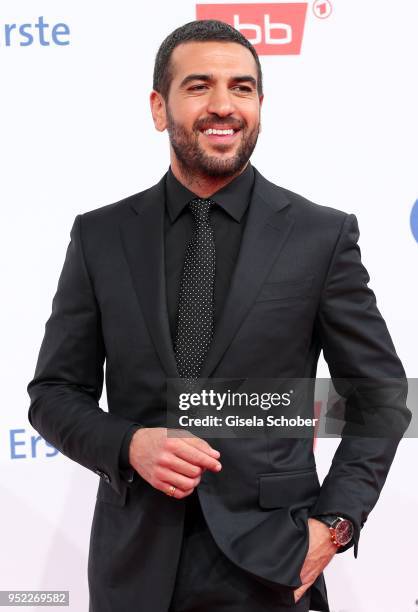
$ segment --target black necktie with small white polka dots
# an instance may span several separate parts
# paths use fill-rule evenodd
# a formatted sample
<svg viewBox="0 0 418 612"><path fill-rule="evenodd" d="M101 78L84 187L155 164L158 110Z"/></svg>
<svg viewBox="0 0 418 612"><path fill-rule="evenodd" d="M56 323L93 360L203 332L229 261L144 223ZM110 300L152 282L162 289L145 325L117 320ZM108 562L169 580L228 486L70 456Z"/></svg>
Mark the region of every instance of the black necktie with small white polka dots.
<svg viewBox="0 0 418 612"><path fill-rule="evenodd" d="M174 345L179 376L200 376L213 335L215 240L209 214L212 200L196 198L189 203L194 234L187 245Z"/></svg>

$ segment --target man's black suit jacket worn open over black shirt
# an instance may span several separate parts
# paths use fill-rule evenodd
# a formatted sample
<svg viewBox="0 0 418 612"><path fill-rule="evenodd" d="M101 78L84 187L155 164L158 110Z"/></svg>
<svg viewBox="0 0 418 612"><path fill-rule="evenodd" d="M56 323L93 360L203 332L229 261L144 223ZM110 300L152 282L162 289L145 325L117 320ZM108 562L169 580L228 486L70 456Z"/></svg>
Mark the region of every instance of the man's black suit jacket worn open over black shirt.
<svg viewBox="0 0 418 612"><path fill-rule="evenodd" d="M203 377L404 379L368 288L354 215L313 204L255 170L249 216ZM127 484L119 452L132 423L165 426L166 379L177 377L164 277L164 177L78 215L46 324L29 420L62 453L101 476L90 553L94 612L168 609L185 500L142 478ZM99 407L106 360L109 413ZM359 532L409 423L405 385L382 410L392 438L344 437L322 486L312 441L219 439L223 469L198 487L208 526L238 566L290 603L308 549L307 519L341 513ZM375 406L379 416L379 406ZM361 407L360 407L361 409ZM323 576L312 609L328 610Z"/></svg>

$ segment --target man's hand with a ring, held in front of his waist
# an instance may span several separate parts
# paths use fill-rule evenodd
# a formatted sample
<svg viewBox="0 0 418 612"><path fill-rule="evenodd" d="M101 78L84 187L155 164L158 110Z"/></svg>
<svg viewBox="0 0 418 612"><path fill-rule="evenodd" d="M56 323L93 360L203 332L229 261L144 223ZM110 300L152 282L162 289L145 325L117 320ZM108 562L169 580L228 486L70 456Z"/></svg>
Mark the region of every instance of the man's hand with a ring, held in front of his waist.
<svg viewBox="0 0 418 612"><path fill-rule="evenodd" d="M187 497L200 482L204 470L219 472L219 451L205 440L184 430L170 430L177 435L168 436L165 427L144 427L132 436L129 463L154 488L173 497ZM183 436L183 437L180 437Z"/></svg>

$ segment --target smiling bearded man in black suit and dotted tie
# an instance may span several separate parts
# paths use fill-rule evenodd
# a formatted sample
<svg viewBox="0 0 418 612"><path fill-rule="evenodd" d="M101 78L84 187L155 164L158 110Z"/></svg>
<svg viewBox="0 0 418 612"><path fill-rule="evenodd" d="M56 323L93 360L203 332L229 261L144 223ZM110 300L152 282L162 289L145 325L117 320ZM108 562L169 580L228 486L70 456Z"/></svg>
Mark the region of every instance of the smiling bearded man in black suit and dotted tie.
<svg viewBox="0 0 418 612"><path fill-rule="evenodd" d="M321 349L336 381L403 380L356 218L250 164L261 67L230 26L170 34L150 102L169 171L76 217L28 386L31 424L101 477L90 610L328 610L322 570L357 555L409 422L404 385L381 410L397 434L344 437L322 487L312 440L167 435L165 392L168 378L315 377Z"/></svg>

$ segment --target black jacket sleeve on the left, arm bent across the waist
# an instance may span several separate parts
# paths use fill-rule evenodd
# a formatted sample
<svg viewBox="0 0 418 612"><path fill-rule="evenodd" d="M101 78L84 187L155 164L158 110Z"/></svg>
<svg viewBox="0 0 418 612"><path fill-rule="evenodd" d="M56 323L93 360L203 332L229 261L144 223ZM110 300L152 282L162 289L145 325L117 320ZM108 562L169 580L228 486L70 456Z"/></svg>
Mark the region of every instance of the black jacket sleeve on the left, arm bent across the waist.
<svg viewBox="0 0 418 612"><path fill-rule="evenodd" d="M98 403L106 355L100 309L83 255L81 220L77 215L71 229L35 375L27 387L28 416L45 440L120 494L125 486L120 452L132 422L105 412Z"/></svg>

